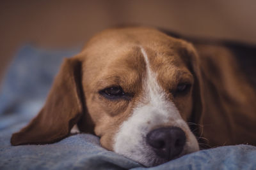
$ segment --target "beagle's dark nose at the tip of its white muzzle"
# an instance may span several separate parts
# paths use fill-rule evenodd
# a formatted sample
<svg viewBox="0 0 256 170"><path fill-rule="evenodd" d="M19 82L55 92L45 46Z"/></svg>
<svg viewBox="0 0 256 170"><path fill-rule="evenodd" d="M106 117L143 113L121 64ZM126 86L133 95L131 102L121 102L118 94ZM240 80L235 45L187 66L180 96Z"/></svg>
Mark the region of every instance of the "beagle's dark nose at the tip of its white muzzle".
<svg viewBox="0 0 256 170"><path fill-rule="evenodd" d="M147 143L156 154L167 160L178 156L185 145L185 132L179 127L161 127L147 134Z"/></svg>

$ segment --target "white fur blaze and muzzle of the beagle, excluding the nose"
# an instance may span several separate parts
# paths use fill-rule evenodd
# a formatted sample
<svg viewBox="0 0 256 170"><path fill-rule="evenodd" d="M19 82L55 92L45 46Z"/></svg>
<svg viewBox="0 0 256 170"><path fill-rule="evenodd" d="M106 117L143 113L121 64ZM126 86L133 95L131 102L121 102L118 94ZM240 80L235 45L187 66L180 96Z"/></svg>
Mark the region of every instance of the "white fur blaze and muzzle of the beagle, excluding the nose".
<svg viewBox="0 0 256 170"><path fill-rule="evenodd" d="M147 78L143 82L143 99L116 133L113 150L144 166L155 166L166 162L157 157L147 145L148 132L161 125L180 127L186 133L186 145L180 155L199 150L195 136L182 120L175 104L168 101L163 89L157 83L157 74L150 69L147 53L141 48L147 66Z"/></svg>

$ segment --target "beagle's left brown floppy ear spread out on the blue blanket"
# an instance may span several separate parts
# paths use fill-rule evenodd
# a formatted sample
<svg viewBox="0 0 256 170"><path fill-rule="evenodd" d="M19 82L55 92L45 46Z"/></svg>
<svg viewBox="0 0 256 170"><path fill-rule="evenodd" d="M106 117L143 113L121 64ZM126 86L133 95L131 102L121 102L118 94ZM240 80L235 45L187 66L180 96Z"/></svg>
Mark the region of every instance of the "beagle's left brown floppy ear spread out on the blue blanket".
<svg viewBox="0 0 256 170"><path fill-rule="evenodd" d="M53 143L65 138L84 111L81 62L65 59L44 108L19 132L12 145Z"/></svg>

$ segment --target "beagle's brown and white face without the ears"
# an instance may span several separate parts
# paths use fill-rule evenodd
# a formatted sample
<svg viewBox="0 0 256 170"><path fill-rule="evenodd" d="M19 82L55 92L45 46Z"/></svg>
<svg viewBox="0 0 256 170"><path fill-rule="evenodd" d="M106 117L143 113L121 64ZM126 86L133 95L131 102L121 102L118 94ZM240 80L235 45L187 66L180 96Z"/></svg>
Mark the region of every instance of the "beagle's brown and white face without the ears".
<svg viewBox="0 0 256 170"><path fill-rule="evenodd" d="M86 106L100 143L145 166L198 150L186 124L193 74L180 41L157 33L106 32L87 46L83 64Z"/></svg>

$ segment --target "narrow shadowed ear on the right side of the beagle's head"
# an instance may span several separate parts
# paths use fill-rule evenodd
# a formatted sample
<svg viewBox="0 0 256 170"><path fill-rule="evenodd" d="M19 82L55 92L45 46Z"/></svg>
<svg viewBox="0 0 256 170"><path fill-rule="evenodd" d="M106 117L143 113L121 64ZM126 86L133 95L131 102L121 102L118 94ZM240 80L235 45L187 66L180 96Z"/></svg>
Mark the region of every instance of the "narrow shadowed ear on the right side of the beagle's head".
<svg viewBox="0 0 256 170"><path fill-rule="evenodd" d="M180 49L182 59L189 67L189 71L194 76L193 85L193 110L189 122L189 127L196 137L202 136L202 115L204 113L204 83L202 80L202 69L198 53L195 47L186 41L182 42L182 49ZM205 143L203 138L198 138L199 143Z"/></svg>

